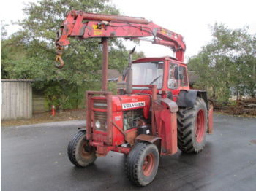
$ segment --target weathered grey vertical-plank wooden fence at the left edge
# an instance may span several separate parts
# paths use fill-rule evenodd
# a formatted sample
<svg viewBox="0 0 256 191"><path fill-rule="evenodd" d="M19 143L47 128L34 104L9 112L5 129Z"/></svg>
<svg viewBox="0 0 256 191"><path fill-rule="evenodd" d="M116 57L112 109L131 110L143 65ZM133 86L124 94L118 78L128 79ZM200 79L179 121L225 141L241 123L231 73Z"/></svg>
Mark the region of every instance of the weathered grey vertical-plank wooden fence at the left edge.
<svg viewBox="0 0 256 191"><path fill-rule="evenodd" d="M31 80L1 79L1 120L32 117Z"/></svg>

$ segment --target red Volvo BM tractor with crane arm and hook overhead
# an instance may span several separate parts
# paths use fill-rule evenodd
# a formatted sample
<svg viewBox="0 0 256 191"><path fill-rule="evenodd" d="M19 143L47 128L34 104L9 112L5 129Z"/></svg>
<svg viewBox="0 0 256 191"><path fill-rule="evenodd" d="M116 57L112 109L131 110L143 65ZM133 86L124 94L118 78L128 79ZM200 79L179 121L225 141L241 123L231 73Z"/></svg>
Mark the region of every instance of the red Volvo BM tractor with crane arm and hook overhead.
<svg viewBox="0 0 256 191"><path fill-rule="evenodd" d="M68 156L77 167L86 167L108 152L127 155L128 179L146 186L154 180L159 156L198 153L213 130L213 108L203 90L189 89L186 45L173 31L138 17L98 15L71 11L56 40L56 61L61 59L68 37L102 38L102 91L86 92L86 128L69 142ZM176 58L142 58L132 61L118 83L118 95L107 90L108 39L141 39L171 47Z"/></svg>

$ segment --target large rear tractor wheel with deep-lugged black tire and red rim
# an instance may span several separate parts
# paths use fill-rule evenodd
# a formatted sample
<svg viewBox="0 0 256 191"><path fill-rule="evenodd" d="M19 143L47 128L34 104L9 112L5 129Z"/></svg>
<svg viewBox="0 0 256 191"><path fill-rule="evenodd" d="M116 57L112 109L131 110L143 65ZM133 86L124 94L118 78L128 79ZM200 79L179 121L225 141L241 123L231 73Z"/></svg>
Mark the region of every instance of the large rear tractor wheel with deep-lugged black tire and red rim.
<svg viewBox="0 0 256 191"><path fill-rule="evenodd" d="M177 112L178 148L182 152L198 153L203 150L208 128L207 113L205 101L198 97L193 108L179 108Z"/></svg>

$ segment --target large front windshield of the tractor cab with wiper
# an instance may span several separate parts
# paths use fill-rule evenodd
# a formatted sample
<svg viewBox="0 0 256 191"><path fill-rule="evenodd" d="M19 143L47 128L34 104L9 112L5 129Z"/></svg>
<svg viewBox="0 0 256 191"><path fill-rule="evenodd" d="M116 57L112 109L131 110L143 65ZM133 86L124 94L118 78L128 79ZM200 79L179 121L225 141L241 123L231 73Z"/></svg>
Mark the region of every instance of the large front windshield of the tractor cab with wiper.
<svg viewBox="0 0 256 191"><path fill-rule="evenodd" d="M157 85L162 88L163 61L133 63L132 84L133 85Z"/></svg>

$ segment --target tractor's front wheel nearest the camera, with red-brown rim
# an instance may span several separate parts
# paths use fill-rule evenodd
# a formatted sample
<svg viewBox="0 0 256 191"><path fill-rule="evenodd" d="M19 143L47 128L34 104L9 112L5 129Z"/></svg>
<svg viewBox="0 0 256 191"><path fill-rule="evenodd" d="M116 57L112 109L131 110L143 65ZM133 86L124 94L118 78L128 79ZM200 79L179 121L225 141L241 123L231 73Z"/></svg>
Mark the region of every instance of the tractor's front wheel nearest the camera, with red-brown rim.
<svg viewBox="0 0 256 191"><path fill-rule="evenodd" d="M159 152L156 145L138 142L127 156L125 171L132 184L144 187L154 180L158 165Z"/></svg>

